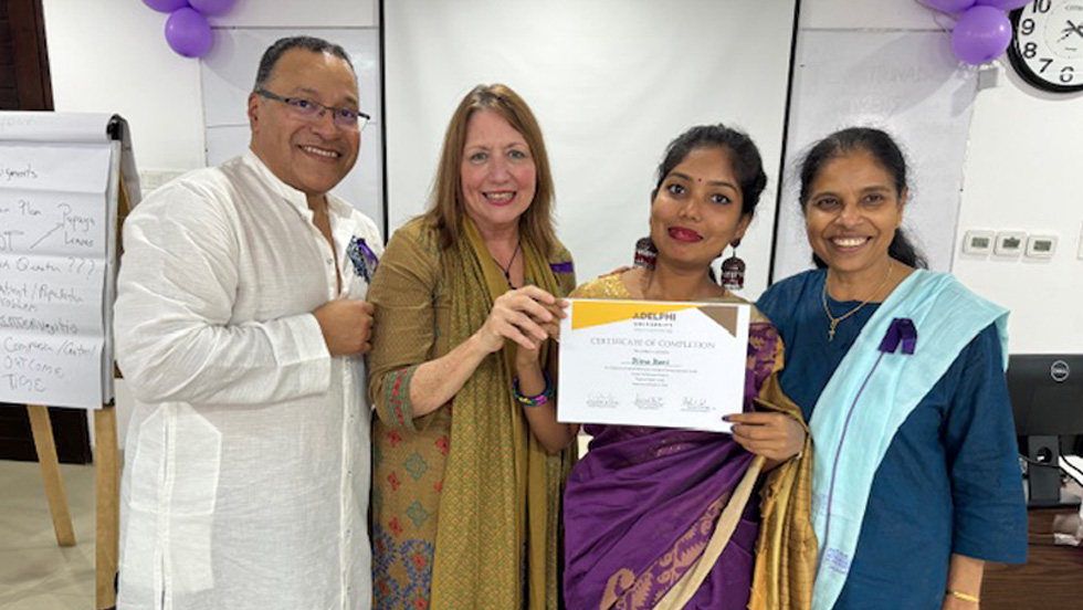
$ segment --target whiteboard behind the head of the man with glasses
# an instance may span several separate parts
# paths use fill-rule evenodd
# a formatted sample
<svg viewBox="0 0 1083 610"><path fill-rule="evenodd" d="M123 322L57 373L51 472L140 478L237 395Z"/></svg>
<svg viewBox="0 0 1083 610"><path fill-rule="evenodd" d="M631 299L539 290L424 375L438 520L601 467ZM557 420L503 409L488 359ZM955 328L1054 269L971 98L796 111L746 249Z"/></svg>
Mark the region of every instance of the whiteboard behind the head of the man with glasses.
<svg viewBox="0 0 1083 610"><path fill-rule="evenodd" d="M372 116L361 132L357 165L332 192L383 224L383 170L380 112L379 31L350 29L217 29L214 48L200 62L203 114L207 126L207 165L217 166L242 154L251 139L248 97L255 83L260 57L274 41L313 35L341 45L354 63L360 108Z"/></svg>

